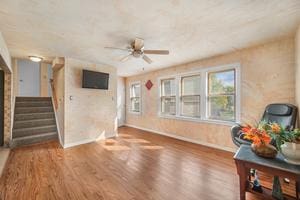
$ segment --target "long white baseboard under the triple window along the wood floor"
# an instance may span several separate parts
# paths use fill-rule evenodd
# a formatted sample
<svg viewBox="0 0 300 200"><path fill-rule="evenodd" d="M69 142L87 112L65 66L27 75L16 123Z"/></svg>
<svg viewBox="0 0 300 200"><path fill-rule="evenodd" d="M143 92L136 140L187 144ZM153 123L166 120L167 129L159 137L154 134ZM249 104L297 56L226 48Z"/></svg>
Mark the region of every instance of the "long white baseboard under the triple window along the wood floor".
<svg viewBox="0 0 300 200"><path fill-rule="evenodd" d="M194 143L194 144L200 144L200 145L203 145L203 146L207 146L207 147L211 147L211 148L215 148L215 149L220 149L220 150L223 150L223 151L228 151L228 152L233 152L233 153L236 152L236 149L234 149L234 148L222 147L222 146L219 146L219 145L216 145L216 144L211 144L211 143L207 143L207 142L201 142L201 141L194 140L194 139L191 139L191 138L186 138L186 137L179 136L179 135L165 133L165 132L162 132L162 131L157 131L157 130L153 130L153 129L143 128L143 127L135 126L135 125L131 125L131 124L125 124L125 126L131 127L131 128L140 129L140 130L143 130L143 131L148 131L148 132L156 133L156 134L159 134L159 135L171 137L171 138L178 139L178 140L183 140L183 141Z"/></svg>

